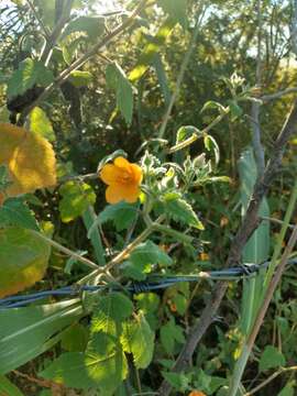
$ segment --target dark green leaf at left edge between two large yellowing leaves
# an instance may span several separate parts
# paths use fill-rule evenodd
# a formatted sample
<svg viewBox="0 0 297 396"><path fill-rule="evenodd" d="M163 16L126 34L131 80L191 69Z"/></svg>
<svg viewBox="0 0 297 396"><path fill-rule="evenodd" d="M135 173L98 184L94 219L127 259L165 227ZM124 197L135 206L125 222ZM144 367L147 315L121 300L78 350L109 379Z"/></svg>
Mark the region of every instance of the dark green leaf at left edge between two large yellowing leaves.
<svg viewBox="0 0 297 396"><path fill-rule="evenodd" d="M23 198L8 198L0 207L0 227L8 226L38 231L37 222Z"/></svg>

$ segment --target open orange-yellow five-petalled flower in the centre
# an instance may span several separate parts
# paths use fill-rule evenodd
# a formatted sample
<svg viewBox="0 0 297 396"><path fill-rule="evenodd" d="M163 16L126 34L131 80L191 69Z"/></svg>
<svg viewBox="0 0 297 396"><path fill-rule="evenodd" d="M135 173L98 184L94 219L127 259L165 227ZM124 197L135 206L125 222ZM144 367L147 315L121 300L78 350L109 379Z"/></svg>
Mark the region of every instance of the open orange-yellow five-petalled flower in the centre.
<svg viewBox="0 0 297 396"><path fill-rule="evenodd" d="M108 185L106 198L109 204L121 200L135 202L140 196L142 169L136 164L131 164L123 157L118 157L113 164L107 164L100 172L100 178Z"/></svg>

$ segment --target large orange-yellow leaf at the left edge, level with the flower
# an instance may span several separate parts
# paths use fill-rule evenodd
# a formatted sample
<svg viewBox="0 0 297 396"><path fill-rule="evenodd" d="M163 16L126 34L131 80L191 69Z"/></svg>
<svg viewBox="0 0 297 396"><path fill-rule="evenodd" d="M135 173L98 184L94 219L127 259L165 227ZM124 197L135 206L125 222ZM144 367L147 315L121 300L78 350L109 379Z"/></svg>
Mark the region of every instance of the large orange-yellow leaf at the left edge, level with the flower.
<svg viewBox="0 0 297 396"><path fill-rule="evenodd" d="M47 140L9 123L0 123L0 165L7 165L13 197L56 184L56 161Z"/></svg>

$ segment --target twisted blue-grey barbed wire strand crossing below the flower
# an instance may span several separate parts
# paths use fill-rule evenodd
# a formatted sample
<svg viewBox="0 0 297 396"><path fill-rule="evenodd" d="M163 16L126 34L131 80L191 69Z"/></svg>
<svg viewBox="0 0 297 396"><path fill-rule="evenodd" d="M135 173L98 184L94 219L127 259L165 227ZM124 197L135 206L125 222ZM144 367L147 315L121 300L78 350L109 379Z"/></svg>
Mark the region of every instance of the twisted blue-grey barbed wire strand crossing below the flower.
<svg viewBox="0 0 297 396"><path fill-rule="evenodd" d="M151 275L146 280L143 282L130 282L127 285L123 285L121 288L118 285L82 285L77 284L61 287L52 290L43 290L31 293L20 296L10 296L0 299L0 310L8 308L20 308L30 305L31 302L36 302L38 300L45 299L47 297L63 297L63 296L79 296L82 293L96 293L103 290L120 292L122 289L131 294L148 293L153 290L164 289L170 286L174 286L183 282L198 282L199 279L209 279L209 280L240 280L242 278L249 278L256 276L261 270L265 270L270 266L271 262L264 262L261 264L254 263L244 263L240 266L231 267L228 270L218 270L218 271L208 271L199 272L193 275L175 275L175 276L162 276L162 275ZM288 265L297 264L297 258L288 261Z"/></svg>

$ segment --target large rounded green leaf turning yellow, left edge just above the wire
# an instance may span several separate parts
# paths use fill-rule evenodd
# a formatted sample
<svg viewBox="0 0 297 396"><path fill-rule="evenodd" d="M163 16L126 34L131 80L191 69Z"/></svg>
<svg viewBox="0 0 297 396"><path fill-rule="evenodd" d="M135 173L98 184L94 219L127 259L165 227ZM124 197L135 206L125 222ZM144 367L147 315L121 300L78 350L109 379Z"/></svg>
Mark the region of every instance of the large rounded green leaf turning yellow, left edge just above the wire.
<svg viewBox="0 0 297 396"><path fill-rule="evenodd" d="M40 280L47 266L50 245L31 230L0 230L0 298Z"/></svg>

